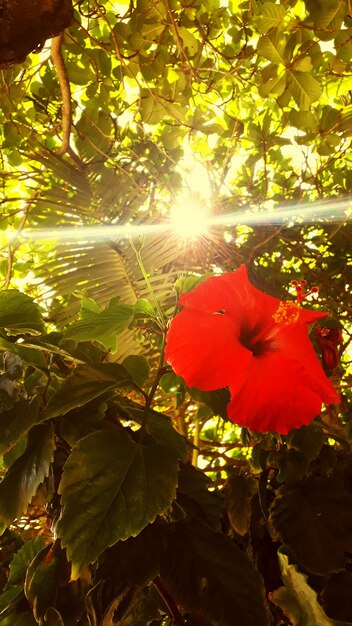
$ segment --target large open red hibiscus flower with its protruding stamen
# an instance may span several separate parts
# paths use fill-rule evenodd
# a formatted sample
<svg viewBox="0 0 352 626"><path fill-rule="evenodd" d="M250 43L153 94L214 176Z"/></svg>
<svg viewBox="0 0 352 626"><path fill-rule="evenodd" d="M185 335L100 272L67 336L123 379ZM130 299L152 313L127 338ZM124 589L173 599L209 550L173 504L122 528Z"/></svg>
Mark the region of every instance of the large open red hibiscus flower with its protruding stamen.
<svg viewBox="0 0 352 626"><path fill-rule="evenodd" d="M302 281L302 284L304 281ZM165 358L189 387L229 387L231 421L286 434L339 396L314 352L308 327L328 313L281 302L248 280L246 267L208 278L180 298ZM301 295L299 295L301 292Z"/></svg>

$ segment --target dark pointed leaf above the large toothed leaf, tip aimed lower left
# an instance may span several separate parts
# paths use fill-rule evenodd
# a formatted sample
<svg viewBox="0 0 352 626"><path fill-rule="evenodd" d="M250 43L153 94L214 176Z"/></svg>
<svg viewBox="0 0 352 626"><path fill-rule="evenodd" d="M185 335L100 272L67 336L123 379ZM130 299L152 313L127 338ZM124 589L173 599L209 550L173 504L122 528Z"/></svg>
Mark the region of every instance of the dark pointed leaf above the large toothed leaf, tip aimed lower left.
<svg viewBox="0 0 352 626"><path fill-rule="evenodd" d="M57 393L50 398L41 419L65 415L68 411L87 404L107 391L133 383L129 372L118 363L99 366L78 365Z"/></svg>

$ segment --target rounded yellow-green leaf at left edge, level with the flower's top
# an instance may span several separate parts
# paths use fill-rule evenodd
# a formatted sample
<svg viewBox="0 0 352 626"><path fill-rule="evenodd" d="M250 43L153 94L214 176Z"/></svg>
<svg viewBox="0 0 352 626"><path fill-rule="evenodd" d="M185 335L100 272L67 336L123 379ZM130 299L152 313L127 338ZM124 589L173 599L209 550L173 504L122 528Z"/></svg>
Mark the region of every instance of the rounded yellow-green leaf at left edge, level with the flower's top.
<svg viewBox="0 0 352 626"><path fill-rule="evenodd" d="M32 298L17 289L0 291L0 328L10 335L39 335L43 327L40 308Z"/></svg>

